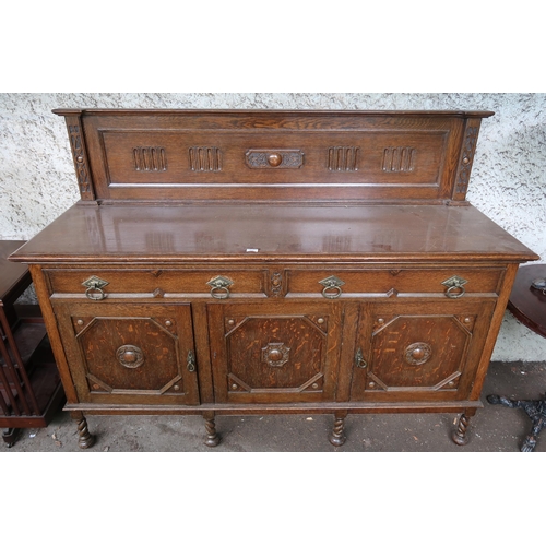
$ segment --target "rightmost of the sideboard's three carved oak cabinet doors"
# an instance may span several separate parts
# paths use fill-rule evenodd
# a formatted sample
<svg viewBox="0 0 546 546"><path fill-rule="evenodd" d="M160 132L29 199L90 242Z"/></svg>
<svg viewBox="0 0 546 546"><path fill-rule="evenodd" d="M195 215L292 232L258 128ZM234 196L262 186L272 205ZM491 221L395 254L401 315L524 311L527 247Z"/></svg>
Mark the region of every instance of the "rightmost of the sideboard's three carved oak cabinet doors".
<svg viewBox="0 0 546 546"><path fill-rule="evenodd" d="M351 399L464 400L494 308L495 301L364 305Z"/></svg>

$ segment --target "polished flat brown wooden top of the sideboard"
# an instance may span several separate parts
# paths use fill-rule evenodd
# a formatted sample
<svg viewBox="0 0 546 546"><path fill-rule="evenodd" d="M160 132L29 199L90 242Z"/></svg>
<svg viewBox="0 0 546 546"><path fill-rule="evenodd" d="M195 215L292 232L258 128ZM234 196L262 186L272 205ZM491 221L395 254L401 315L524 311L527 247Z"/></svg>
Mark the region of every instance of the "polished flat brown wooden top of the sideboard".
<svg viewBox="0 0 546 546"><path fill-rule="evenodd" d="M474 206L73 205L12 259L535 260Z"/></svg>

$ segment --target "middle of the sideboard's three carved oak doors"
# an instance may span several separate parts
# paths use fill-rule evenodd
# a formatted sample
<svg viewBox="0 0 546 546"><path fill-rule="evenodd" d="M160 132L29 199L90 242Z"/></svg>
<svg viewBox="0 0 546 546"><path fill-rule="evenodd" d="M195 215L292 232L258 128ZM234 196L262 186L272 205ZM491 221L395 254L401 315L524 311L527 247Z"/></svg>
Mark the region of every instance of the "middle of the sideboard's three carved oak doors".
<svg viewBox="0 0 546 546"><path fill-rule="evenodd" d="M337 306L212 304L207 310L217 402L334 400Z"/></svg>

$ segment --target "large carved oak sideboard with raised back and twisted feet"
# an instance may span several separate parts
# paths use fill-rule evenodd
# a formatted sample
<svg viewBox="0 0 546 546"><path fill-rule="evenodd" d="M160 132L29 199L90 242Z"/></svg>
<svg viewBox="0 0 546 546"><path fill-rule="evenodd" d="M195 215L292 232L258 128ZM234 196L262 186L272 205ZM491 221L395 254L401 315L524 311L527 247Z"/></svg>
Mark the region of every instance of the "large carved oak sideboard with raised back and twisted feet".
<svg viewBox="0 0 546 546"><path fill-rule="evenodd" d="M56 110L82 197L29 264L67 410L462 413L519 263L465 200L477 111Z"/></svg>

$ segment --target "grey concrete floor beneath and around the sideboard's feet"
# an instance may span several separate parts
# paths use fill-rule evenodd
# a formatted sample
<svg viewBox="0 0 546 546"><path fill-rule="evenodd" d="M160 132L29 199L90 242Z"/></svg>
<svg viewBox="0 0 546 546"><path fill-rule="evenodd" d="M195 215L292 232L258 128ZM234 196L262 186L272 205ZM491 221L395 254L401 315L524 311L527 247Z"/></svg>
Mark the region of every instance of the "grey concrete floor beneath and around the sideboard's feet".
<svg viewBox="0 0 546 546"><path fill-rule="evenodd" d="M484 408L471 419L470 442L451 440L454 414L349 415L347 441L334 448L328 441L332 415L217 416L222 442L203 444L200 416L94 416L87 417L96 436L92 452L513 452L531 429L523 410L490 405L488 394L538 400L546 393L546 363L492 363L486 378ZM59 411L47 428L22 429L7 452L79 452L75 425ZM546 452L546 431L536 452Z"/></svg>

